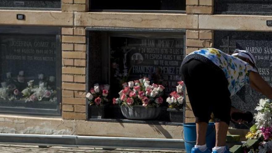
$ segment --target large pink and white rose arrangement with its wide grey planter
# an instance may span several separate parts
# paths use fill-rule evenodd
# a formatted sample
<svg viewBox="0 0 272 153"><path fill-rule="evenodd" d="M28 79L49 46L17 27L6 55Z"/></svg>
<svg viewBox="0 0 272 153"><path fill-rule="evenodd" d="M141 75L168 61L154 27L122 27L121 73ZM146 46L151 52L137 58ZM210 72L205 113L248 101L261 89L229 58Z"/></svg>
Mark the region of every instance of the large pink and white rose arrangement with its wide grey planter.
<svg viewBox="0 0 272 153"><path fill-rule="evenodd" d="M148 78L123 83L119 98L113 104L121 106L122 114L128 119L148 120L159 116L163 103L164 86L152 84Z"/></svg>

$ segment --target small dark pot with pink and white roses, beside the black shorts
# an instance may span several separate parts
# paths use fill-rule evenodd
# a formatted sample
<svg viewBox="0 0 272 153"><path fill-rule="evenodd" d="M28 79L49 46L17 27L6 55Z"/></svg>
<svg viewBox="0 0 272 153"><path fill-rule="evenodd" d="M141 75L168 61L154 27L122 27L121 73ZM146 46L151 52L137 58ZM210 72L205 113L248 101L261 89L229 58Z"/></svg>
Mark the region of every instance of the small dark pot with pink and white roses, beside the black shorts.
<svg viewBox="0 0 272 153"><path fill-rule="evenodd" d="M166 99L168 103L167 111L170 113L171 122L183 122L183 101L184 101L184 82L179 81L176 86L176 91L170 93L170 96Z"/></svg>

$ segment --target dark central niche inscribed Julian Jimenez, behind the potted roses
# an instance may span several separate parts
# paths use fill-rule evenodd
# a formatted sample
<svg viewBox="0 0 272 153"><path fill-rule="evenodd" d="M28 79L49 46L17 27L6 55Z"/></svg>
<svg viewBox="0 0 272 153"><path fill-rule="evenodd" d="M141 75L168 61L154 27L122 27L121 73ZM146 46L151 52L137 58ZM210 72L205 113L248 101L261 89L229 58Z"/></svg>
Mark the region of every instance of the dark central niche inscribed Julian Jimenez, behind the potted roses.
<svg viewBox="0 0 272 153"><path fill-rule="evenodd" d="M90 29L88 33L87 88L94 83L110 84L110 100L118 97L121 84L148 77L165 87L164 101L176 91L185 56L184 31L151 32L139 29ZM169 121L164 114L158 121ZM124 118L117 105L105 110L105 118Z"/></svg>

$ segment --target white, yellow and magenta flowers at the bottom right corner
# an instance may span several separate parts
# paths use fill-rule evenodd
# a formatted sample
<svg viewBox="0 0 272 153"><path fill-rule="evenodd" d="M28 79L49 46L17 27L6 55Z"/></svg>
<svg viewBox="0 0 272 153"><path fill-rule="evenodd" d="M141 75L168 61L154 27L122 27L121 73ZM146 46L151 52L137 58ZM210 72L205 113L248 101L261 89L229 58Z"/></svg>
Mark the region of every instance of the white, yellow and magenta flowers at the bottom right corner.
<svg viewBox="0 0 272 153"><path fill-rule="evenodd" d="M268 99L260 99L253 117L256 123L246 135L247 139L259 139L257 148L244 148L245 152L270 153L272 151L272 103Z"/></svg>

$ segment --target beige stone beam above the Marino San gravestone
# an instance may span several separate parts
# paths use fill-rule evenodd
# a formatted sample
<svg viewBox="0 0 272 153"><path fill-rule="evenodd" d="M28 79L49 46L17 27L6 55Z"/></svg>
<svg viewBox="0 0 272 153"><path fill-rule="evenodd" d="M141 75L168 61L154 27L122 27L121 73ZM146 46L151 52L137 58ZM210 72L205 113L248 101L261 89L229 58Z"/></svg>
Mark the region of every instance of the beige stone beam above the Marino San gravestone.
<svg viewBox="0 0 272 153"><path fill-rule="evenodd" d="M272 31L272 27L266 26L266 20L272 20L272 16L199 15L199 29Z"/></svg>

